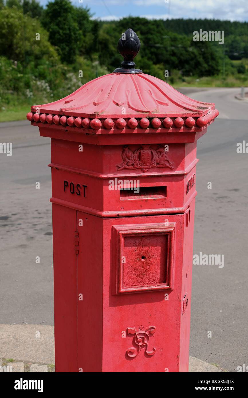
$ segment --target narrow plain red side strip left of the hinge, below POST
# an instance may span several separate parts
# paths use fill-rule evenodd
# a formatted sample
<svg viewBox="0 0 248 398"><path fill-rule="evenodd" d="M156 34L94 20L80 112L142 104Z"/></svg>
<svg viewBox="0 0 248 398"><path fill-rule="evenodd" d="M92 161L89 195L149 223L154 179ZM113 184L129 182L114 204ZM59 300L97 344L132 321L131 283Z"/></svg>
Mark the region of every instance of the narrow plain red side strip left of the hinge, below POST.
<svg viewBox="0 0 248 398"><path fill-rule="evenodd" d="M56 372L77 372L76 211L53 204Z"/></svg>

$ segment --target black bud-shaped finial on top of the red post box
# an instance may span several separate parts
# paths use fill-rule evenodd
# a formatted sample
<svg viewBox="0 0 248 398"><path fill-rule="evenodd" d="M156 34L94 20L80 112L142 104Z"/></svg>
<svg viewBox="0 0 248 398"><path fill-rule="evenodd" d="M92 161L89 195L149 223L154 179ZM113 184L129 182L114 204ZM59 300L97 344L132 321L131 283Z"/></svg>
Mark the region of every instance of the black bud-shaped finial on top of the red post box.
<svg viewBox="0 0 248 398"><path fill-rule="evenodd" d="M125 33L122 33L117 49L124 61L121 62L122 68L115 69L114 73L143 73L142 70L135 69L135 62L133 62L141 49L141 42L133 29L127 29Z"/></svg>

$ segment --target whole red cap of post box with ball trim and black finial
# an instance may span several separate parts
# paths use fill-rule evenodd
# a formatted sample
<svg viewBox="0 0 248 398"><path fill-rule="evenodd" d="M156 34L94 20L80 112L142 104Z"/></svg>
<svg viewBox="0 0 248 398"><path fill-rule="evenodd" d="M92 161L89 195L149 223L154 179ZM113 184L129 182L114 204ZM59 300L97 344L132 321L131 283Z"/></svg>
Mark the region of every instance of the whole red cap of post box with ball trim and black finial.
<svg viewBox="0 0 248 398"><path fill-rule="evenodd" d="M121 68L84 84L62 100L32 106L27 119L57 128L126 127L132 131L199 131L212 123L219 114L214 103L192 100L163 80L134 68L140 47L136 33L127 29L118 43L124 58Z"/></svg>

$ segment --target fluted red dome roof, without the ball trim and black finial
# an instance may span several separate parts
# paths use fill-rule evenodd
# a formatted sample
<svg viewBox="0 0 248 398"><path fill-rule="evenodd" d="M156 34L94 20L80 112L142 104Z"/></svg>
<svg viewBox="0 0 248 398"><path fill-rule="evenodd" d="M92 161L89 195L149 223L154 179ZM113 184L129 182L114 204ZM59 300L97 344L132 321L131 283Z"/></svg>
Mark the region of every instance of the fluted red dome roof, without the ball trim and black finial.
<svg viewBox="0 0 248 398"><path fill-rule="evenodd" d="M215 104L192 100L172 86L145 73L111 73L96 78L74 93L45 105L40 113L90 118L200 117Z"/></svg>

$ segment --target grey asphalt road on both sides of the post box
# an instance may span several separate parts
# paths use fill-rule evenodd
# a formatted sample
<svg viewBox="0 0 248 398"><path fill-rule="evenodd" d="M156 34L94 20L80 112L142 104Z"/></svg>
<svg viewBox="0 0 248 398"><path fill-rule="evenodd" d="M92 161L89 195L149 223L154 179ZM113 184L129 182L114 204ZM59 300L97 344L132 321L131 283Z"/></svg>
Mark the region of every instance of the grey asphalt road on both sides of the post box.
<svg viewBox="0 0 248 398"><path fill-rule="evenodd" d="M248 154L236 152L248 141L248 102L239 91L187 92L220 111L197 144L194 254L225 261L193 265L190 355L229 372L248 366ZM0 142L13 142L12 156L0 154L0 323L53 325L50 140L21 121L0 123Z"/></svg>

